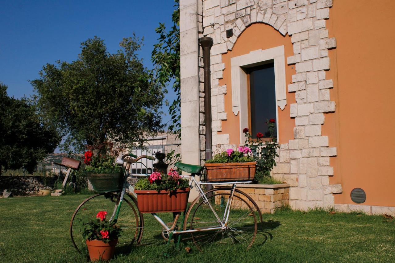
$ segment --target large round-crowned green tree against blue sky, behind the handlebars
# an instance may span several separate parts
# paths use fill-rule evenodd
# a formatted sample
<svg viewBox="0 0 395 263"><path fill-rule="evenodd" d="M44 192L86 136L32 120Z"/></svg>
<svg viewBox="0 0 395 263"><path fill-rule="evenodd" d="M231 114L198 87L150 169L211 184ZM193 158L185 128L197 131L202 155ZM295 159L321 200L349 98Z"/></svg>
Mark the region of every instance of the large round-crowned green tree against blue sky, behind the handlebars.
<svg viewBox="0 0 395 263"><path fill-rule="evenodd" d="M31 81L36 105L64 136L62 149L109 141L130 147L162 128L164 94L137 57L141 41L124 38L120 47L110 54L95 36L81 43L77 60L46 64Z"/></svg>

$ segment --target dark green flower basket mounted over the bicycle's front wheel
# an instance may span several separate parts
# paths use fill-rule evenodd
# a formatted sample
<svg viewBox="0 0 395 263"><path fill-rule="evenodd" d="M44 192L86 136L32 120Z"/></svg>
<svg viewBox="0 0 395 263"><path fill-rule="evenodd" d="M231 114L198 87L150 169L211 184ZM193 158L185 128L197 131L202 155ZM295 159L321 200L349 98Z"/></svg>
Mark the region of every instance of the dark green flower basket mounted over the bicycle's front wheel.
<svg viewBox="0 0 395 263"><path fill-rule="evenodd" d="M116 192L122 189L125 168L85 171L87 178L96 192Z"/></svg>

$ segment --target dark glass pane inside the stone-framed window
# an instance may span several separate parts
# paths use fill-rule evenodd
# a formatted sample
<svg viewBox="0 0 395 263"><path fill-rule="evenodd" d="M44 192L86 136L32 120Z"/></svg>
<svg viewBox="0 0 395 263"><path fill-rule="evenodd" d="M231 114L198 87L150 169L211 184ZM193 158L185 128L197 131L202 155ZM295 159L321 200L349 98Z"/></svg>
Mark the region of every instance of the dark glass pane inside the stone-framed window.
<svg viewBox="0 0 395 263"><path fill-rule="evenodd" d="M251 135L263 133L270 137L266 120L276 119L276 88L274 63L265 64L250 70L250 112Z"/></svg>

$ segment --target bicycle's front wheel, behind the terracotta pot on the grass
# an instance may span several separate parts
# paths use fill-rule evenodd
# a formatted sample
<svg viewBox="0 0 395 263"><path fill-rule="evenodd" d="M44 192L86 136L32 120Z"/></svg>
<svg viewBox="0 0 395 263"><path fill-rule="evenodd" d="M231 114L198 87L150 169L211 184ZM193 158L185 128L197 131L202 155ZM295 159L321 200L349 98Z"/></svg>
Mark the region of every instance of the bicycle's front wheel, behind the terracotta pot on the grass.
<svg viewBox="0 0 395 263"><path fill-rule="evenodd" d="M107 219L113 217L119 204L119 195L117 193L100 193L88 197L75 210L70 222L70 236L74 247L78 252L85 252L87 249L85 239L82 233L78 231L79 220L85 216L94 217L99 211L107 211ZM121 236L118 239L119 246L128 248L139 237L142 232L143 218L139 214L137 205L129 195L125 194L122 206L118 214L117 225L122 229Z"/></svg>

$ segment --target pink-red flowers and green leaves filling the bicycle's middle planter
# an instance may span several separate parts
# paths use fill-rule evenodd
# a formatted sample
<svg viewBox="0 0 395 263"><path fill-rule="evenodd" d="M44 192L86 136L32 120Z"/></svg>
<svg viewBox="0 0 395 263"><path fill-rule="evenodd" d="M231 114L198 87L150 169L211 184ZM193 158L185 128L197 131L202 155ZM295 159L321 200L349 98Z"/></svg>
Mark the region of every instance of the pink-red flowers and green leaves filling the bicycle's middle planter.
<svg viewBox="0 0 395 263"><path fill-rule="evenodd" d="M134 188L136 190L156 190L156 191L176 191L177 189L185 189L189 187L188 180L180 177L176 170L170 169L166 174L153 172L148 178L139 179Z"/></svg>

